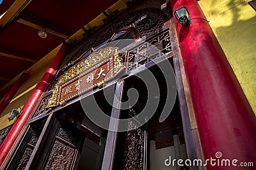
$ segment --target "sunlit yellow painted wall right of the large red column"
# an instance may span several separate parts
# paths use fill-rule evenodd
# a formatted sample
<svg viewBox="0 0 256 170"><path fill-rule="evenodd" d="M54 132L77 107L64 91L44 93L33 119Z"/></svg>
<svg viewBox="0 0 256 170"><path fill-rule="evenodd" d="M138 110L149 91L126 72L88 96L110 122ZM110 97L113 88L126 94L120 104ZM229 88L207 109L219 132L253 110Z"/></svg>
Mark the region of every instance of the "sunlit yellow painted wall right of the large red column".
<svg viewBox="0 0 256 170"><path fill-rule="evenodd" d="M198 1L256 113L256 11L248 2Z"/></svg>

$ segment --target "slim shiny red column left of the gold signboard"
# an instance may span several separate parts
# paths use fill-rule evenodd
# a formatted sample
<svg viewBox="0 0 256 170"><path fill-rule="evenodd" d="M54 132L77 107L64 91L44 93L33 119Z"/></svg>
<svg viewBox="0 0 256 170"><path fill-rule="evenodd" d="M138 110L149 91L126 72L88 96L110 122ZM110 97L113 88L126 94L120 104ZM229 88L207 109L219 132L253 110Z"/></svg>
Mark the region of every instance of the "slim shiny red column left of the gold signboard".
<svg viewBox="0 0 256 170"><path fill-rule="evenodd" d="M3 164L4 159L8 155L10 148L12 148L17 137L19 136L20 132L22 131L22 127L24 127L24 125L28 121L28 118L31 115L33 108L35 107L36 103L42 96L42 93L44 92L45 88L47 87L54 72L60 66L60 62L63 59L66 52L67 52L67 46L62 45L59 52L57 53L56 57L52 60L51 65L45 72L42 80L38 83L35 91L33 92L31 97L29 98L28 102L24 106L22 115L20 115L20 117L17 119L17 121L13 125L12 129L10 130L10 132L4 139L2 145L0 146L0 151L1 151L0 152L0 167Z"/></svg>

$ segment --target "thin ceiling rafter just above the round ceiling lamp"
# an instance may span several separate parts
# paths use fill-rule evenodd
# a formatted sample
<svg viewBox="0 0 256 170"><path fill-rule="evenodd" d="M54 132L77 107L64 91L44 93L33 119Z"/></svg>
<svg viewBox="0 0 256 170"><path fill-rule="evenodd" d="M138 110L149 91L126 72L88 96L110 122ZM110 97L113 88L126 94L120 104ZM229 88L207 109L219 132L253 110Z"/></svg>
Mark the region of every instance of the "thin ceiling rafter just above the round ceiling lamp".
<svg viewBox="0 0 256 170"><path fill-rule="evenodd" d="M54 36L59 36L60 38L63 38L64 40L68 38L68 36L66 36L64 34L61 34L60 32L52 31L51 29L47 29L47 28L42 27L40 25L34 24L32 22L24 20L23 18L19 18L19 20L17 20L17 22L19 22L21 24L24 24L24 25L28 25L29 27L33 27L33 28L38 29L38 30L46 31L49 34L52 34Z"/></svg>

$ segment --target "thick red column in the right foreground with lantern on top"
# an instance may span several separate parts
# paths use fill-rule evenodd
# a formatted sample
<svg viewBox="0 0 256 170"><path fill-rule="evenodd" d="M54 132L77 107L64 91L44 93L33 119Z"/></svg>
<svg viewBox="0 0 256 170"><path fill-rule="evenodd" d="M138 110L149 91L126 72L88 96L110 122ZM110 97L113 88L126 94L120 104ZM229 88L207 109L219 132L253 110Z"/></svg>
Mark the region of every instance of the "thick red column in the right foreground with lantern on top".
<svg viewBox="0 0 256 170"><path fill-rule="evenodd" d="M195 0L171 0L171 6L186 6L192 18L189 26L175 18L175 25L205 159L221 152L221 159L255 165L255 115L204 13ZM207 169L234 169L209 164Z"/></svg>

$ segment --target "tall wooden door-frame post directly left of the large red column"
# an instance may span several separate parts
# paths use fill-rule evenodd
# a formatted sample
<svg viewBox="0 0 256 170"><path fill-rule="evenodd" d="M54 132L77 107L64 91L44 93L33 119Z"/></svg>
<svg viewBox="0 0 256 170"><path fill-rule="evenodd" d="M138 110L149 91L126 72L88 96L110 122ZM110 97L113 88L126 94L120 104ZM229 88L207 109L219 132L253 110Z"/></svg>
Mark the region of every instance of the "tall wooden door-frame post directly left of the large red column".
<svg viewBox="0 0 256 170"><path fill-rule="evenodd" d="M177 91L180 103L180 115L182 117L182 126L186 143L186 151L189 159L204 160L199 134L196 134L196 132L198 132L198 129L195 120L195 112L191 101L188 80L186 77L184 63L179 48L179 41L177 39L177 31L175 29L173 20L173 18L170 19L170 37L172 39L171 43L174 53L173 66L177 81ZM205 170L205 167L190 167L190 169Z"/></svg>

